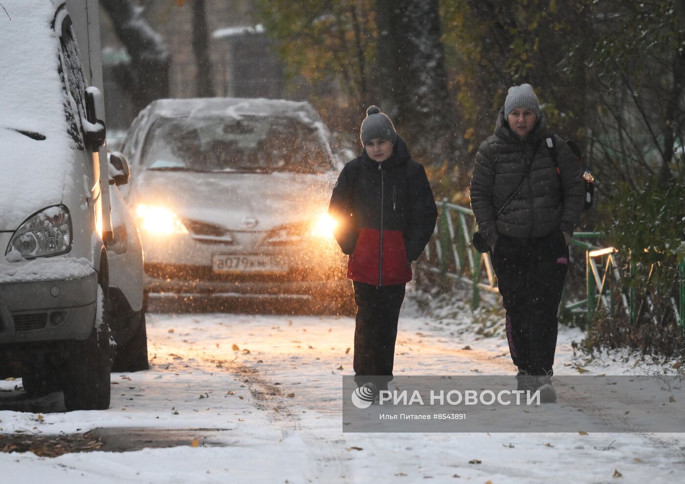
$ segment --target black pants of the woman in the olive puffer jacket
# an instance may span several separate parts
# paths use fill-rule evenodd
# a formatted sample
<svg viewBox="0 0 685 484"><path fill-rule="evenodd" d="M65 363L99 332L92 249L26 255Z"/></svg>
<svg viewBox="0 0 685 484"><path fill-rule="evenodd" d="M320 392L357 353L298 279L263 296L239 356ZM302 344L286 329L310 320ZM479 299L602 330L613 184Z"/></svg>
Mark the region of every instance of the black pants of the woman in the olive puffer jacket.
<svg viewBox="0 0 685 484"><path fill-rule="evenodd" d="M551 372L557 339L557 311L569 267L564 234L518 239L500 235L492 254L506 309L509 352L530 374Z"/></svg>

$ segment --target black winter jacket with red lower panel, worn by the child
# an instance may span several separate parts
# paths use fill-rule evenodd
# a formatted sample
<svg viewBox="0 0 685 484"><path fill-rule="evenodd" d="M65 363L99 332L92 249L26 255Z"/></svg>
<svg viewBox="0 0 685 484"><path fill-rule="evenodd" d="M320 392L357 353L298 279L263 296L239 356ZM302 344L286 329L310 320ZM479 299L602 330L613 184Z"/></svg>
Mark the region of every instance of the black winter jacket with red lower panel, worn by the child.
<svg viewBox="0 0 685 484"><path fill-rule="evenodd" d="M438 218L421 164L397 138L393 155L378 163L362 155L345 165L328 209L340 249L349 255L347 277L373 285L406 283Z"/></svg>

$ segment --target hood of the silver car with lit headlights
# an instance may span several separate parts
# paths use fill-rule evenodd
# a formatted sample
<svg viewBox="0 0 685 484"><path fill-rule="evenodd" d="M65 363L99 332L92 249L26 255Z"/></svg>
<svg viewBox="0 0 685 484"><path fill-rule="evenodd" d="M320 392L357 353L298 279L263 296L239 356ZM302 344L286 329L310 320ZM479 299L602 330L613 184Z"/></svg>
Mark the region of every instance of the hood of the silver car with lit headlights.
<svg viewBox="0 0 685 484"><path fill-rule="evenodd" d="M325 214L336 175L143 170L132 177L127 201L164 205L182 219L226 229L263 231ZM246 227L245 217L256 218L256 227Z"/></svg>

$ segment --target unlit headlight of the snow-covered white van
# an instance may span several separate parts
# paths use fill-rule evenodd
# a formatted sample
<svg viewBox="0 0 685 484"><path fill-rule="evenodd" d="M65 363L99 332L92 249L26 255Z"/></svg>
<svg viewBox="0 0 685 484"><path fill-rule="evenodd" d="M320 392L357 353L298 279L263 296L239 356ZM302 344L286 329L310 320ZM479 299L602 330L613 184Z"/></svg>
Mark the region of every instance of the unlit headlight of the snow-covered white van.
<svg viewBox="0 0 685 484"><path fill-rule="evenodd" d="M12 235L5 255L17 251L24 259L71 251L71 216L64 205L53 205L27 218Z"/></svg>

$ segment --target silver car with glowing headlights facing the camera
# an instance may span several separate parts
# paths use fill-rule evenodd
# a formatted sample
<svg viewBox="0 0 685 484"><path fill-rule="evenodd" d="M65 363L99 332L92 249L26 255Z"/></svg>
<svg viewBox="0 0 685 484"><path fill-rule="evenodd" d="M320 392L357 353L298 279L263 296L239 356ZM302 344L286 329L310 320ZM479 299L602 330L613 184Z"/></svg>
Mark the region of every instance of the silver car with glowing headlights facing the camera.
<svg viewBox="0 0 685 484"><path fill-rule="evenodd" d="M350 310L327 216L342 166L308 103L154 101L122 151L150 297L295 297Z"/></svg>

